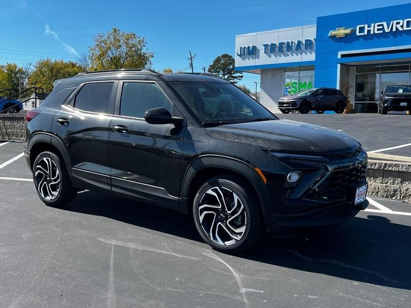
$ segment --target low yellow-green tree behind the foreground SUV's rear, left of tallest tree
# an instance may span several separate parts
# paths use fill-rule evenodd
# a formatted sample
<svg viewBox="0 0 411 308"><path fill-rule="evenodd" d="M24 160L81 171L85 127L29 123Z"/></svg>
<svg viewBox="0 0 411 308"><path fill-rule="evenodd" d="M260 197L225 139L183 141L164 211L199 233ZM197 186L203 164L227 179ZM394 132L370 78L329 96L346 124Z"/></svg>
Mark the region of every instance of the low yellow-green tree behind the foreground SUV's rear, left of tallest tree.
<svg viewBox="0 0 411 308"><path fill-rule="evenodd" d="M43 88L45 92L53 89L57 79L70 78L83 71L83 67L76 62L44 59L34 64L34 70L28 77L28 85Z"/></svg>

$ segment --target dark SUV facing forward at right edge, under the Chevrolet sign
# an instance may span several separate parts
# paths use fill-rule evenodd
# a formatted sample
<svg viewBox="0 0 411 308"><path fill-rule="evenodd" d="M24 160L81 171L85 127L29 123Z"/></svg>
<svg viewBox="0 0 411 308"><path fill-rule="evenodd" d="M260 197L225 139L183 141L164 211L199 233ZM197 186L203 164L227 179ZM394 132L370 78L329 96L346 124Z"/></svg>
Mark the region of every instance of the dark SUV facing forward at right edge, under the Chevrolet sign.
<svg viewBox="0 0 411 308"><path fill-rule="evenodd" d="M387 114L388 111L411 111L411 85L386 86L380 92L380 102L382 114Z"/></svg>

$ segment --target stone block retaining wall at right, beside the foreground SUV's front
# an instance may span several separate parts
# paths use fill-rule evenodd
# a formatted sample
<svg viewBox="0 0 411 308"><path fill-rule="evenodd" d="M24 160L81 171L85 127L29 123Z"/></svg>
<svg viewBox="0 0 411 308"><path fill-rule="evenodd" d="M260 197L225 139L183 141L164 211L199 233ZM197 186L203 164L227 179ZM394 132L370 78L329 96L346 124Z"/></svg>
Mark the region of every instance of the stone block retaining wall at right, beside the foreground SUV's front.
<svg viewBox="0 0 411 308"><path fill-rule="evenodd" d="M411 163L368 161L368 196L411 203Z"/></svg>

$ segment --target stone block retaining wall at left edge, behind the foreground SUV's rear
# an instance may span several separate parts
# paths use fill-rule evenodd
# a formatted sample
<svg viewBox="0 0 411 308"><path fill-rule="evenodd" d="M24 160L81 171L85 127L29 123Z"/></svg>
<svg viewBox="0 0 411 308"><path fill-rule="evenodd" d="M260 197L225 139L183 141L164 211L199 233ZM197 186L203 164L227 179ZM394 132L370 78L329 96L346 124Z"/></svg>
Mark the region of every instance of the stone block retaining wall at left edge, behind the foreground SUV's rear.
<svg viewBox="0 0 411 308"><path fill-rule="evenodd" d="M23 141L25 137L26 114L0 113L0 140Z"/></svg>

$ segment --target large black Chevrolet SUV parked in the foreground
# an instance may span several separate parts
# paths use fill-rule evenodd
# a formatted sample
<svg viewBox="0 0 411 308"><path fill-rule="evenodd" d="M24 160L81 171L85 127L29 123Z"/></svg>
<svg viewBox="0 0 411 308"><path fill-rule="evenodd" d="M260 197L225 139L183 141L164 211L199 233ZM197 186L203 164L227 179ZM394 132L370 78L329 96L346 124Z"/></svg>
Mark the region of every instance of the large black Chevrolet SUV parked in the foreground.
<svg viewBox="0 0 411 308"><path fill-rule="evenodd" d="M240 252L264 232L345 222L368 205L367 154L339 131L279 120L235 85L151 70L58 80L27 112L25 156L40 199L91 189L193 215Z"/></svg>

